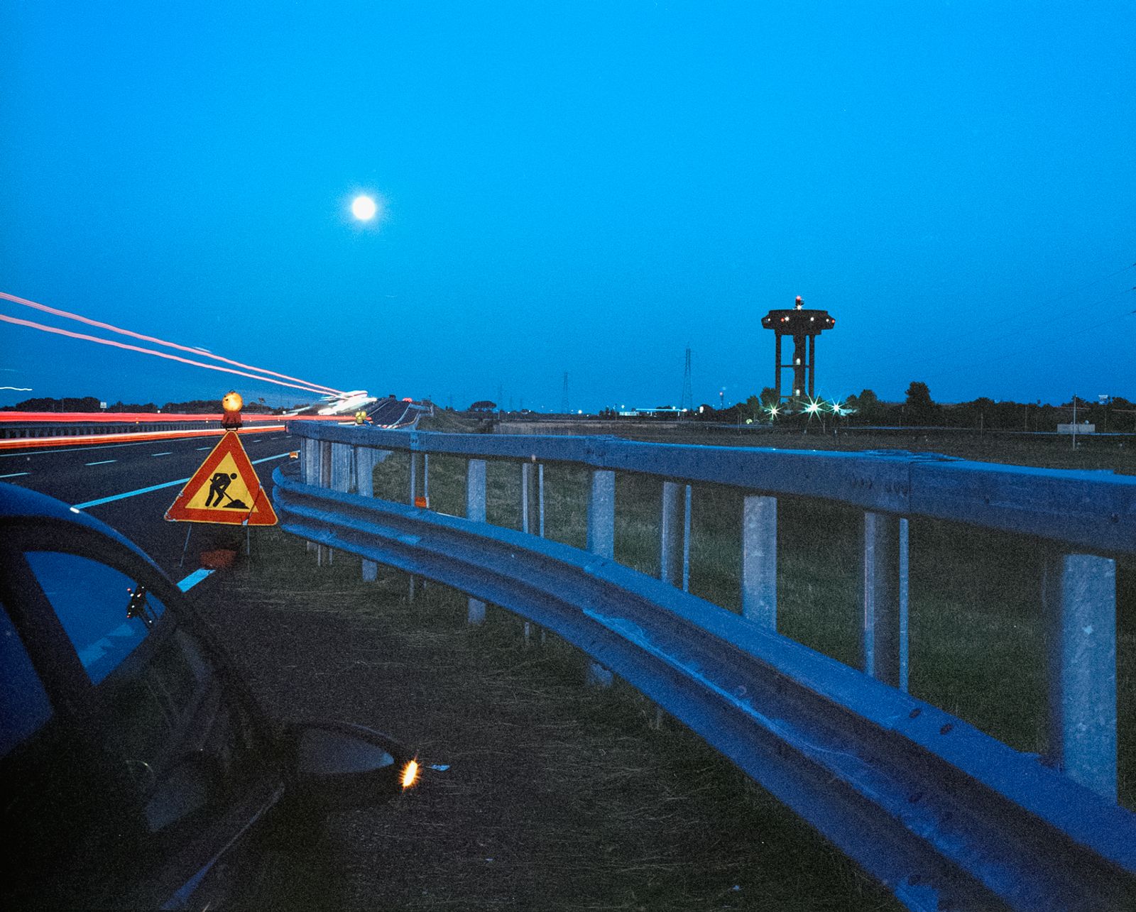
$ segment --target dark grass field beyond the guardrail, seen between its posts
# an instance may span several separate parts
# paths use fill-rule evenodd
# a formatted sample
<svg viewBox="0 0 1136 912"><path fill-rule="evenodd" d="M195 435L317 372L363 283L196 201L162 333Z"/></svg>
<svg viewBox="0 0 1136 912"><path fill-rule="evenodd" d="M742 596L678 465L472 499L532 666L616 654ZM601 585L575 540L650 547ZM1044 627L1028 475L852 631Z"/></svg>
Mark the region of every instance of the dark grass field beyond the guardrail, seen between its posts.
<svg viewBox="0 0 1136 912"><path fill-rule="evenodd" d="M462 429L446 416L446 429ZM432 428L427 428L432 429ZM465 428L468 429L468 428ZM538 430L540 425L534 425ZM934 436L933 434L930 436ZM703 443L735 443L700 434ZM882 440L845 434L765 435L762 445L886 449ZM746 441L752 442L751 438ZM966 458L1077 468L1136 469L1136 447L1114 440L1066 450L1068 441L971 435L936 437L937 451ZM908 440L910 449L924 443ZM1124 441L1119 442L1120 444ZM950 444L950 445L949 445ZM1058 444L1064 444L1059 446ZM1030 449L1033 447L1033 449ZM1030 459L1029 457L1034 458ZM406 500L406 454L376 469ZM401 467L401 468L400 468ZM585 469L545 466L548 537L586 546ZM488 521L519 528L519 468L491 461ZM732 611L741 610L743 493L699 485L693 490L690 589ZM616 559L652 576L659 572L658 479L617 476ZM431 459L432 507L465 513L465 460ZM442 505L445 504L445 505ZM778 631L853 667L860 667L861 513L801 497L778 501ZM1044 753L1046 739L1045 635L1041 610L1044 552L1020 536L1000 535L928 519L910 521L910 689L1010 746ZM1136 808L1136 561L1118 561L1118 710L1120 801Z"/></svg>

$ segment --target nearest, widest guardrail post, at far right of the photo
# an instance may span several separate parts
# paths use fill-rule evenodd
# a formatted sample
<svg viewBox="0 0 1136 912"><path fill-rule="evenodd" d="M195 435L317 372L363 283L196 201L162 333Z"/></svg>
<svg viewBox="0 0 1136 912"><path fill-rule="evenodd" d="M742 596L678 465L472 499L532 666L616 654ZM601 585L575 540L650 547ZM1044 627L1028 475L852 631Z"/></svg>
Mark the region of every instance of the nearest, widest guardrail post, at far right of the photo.
<svg viewBox="0 0 1136 912"><path fill-rule="evenodd" d="M1050 760L1117 800L1117 564L1058 554L1045 568Z"/></svg>

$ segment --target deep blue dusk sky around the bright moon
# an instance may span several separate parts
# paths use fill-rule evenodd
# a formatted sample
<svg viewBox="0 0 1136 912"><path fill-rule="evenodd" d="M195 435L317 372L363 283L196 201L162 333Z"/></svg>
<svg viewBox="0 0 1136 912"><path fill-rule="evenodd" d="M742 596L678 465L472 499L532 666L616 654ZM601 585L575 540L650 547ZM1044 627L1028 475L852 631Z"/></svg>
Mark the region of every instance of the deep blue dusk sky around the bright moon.
<svg viewBox="0 0 1136 912"><path fill-rule="evenodd" d="M1136 399L1134 34L1130 0L9 0L0 292L457 408L678 404L687 348L728 404L797 294L825 396ZM0 386L312 398L10 323Z"/></svg>

